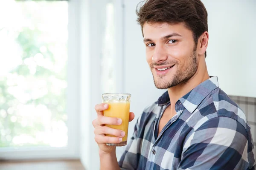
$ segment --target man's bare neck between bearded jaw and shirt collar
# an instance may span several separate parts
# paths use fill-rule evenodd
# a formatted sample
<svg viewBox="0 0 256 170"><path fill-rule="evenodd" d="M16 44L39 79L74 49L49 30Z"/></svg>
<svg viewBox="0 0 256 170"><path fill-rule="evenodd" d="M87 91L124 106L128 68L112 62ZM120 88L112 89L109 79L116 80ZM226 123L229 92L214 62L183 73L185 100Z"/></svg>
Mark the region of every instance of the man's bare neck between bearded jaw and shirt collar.
<svg viewBox="0 0 256 170"><path fill-rule="evenodd" d="M206 64L198 65L196 73L186 82L180 83L172 88L168 88L168 94L171 102L171 110L175 111L175 104L182 96L186 95L196 86L209 79Z"/></svg>

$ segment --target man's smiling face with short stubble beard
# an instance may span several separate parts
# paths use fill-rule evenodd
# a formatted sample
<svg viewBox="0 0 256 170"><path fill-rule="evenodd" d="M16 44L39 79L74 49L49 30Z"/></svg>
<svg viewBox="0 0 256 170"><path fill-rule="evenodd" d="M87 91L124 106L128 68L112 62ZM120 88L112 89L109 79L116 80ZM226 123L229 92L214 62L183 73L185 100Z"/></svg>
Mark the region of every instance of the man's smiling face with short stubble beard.
<svg viewBox="0 0 256 170"><path fill-rule="evenodd" d="M193 34L183 23L145 23L143 34L146 59L157 88L186 83L196 73L198 59Z"/></svg>

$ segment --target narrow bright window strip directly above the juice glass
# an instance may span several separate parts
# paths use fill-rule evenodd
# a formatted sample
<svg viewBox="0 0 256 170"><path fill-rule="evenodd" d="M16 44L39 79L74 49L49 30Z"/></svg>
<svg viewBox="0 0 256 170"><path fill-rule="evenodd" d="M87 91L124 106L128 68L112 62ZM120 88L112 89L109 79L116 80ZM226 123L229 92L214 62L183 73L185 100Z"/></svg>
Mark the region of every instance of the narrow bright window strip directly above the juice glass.
<svg viewBox="0 0 256 170"><path fill-rule="evenodd" d="M101 55L101 85L103 93L123 92L123 1L107 0Z"/></svg>

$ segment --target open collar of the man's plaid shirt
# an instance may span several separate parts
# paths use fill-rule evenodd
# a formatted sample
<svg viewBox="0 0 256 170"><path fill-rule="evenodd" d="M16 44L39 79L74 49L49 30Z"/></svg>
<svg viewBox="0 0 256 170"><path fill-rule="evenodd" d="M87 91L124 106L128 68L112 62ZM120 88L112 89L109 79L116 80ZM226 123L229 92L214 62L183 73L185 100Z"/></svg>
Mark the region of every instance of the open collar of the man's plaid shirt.
<svg viewBox="0 0 256 170"><path fill-rule="evenodd" d="M198 105L208 96L214 89L219 87L218 77L210 77L206 81L196 86L185 96L179 100L182 105L190 112L193 113ZM166 91L157 101L159 106L166 105L170 102L168 91Z"/></svg>

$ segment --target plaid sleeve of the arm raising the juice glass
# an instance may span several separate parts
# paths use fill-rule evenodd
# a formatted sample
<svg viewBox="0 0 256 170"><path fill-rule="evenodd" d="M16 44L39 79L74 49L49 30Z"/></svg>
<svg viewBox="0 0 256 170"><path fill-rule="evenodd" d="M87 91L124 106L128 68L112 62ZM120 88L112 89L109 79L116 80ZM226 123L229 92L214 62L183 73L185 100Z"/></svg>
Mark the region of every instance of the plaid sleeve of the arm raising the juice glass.
<svg viewBox="0 0 256 170"><path fill-rule="evenodd" d="M129 141L125 152L122 154L120 161L118 162L121 170L136 170L139 161L140 148L138 147L138 130L139 130L140 117L137 119L137 123L134 127L134 133Z"/></svg>

